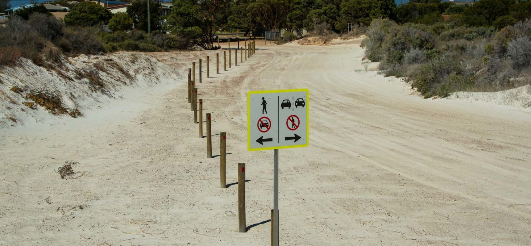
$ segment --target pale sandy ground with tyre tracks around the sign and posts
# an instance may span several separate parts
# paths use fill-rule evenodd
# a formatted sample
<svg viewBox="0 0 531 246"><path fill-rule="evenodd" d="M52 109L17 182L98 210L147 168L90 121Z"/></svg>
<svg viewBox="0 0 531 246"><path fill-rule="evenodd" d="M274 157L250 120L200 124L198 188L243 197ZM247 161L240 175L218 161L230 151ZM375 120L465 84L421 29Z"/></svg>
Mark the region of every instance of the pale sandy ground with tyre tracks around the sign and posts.
<svg viewBox="0 0 531 246"><path fill-rule="evenodd" d="M246 150L246 93L308 88L310 146L280 150L281 245L531 245L529 109L421 99L356 43L258 48L199 86L227 183L247 164L247 225L269 219L273 157ZM237 185L186 103L181 62L215 53L153 54L174 89L3 128L0 245L269 245L269 223L237 232ZM61 180L66 160L85 175Z"/></svg>

